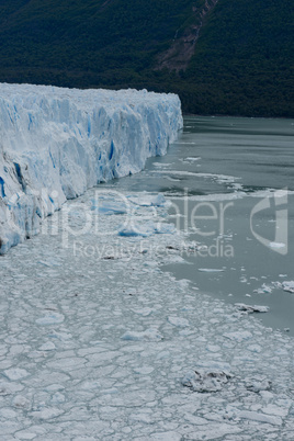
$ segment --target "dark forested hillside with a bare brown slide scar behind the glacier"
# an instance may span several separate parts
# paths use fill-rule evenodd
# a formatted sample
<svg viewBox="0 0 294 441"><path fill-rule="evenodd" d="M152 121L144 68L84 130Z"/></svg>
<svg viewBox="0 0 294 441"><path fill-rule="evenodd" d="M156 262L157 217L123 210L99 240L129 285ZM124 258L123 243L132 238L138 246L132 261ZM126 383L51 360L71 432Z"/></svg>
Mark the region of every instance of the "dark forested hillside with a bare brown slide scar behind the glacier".
<svg viewBox="0 0 294 441"><path fill-rule="evenodd" d="M294 116L293 0L0 0L0 81L147 88Z"/></svg>

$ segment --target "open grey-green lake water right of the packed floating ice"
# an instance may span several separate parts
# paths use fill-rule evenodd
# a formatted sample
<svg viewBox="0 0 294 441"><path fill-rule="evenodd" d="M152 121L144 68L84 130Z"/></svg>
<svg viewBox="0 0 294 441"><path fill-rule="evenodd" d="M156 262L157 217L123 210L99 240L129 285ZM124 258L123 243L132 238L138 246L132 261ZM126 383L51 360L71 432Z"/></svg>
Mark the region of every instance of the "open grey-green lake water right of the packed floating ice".
<svg viewBox="0 0 294 441"><path fill-rule="evenodd" d="M294 280L293 135L293 120L188 116L167 156L106 184L162 192L174 224L208 247L163 268L226 302L269 306L263 323L292 335L294 295L282 284Z"/></svg>

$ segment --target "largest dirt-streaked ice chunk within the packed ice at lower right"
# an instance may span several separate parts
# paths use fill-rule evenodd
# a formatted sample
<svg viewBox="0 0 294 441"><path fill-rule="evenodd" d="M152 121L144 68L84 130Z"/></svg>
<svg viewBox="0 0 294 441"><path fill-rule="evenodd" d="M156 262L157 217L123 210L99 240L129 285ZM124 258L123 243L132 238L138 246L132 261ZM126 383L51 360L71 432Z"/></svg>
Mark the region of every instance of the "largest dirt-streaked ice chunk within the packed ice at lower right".
<svg viewBox="0 0 294 441"><path fill-rule="evenodd" d="M229 372L201 369L186 373L182 378L182 385L200 393L218 392L231 377Z"/></svg>

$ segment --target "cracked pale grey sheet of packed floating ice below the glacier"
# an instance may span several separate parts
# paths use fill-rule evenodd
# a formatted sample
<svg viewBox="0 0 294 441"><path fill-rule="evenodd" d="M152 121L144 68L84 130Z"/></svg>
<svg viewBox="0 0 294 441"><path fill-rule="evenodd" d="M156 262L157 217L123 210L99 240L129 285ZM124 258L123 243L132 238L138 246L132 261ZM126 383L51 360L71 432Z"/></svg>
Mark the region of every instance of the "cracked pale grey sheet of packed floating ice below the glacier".
<svg viewBox="0 0 294 441"><path fill-rule="evenodd" d="M217 260L195 268L210 238L199 246L190 226L170 227L184 220L182 213L170 217L170 195L184 196L172 186L179 181L147 179L155 168L171 168L173 151L154 161L160 166L68 202L41 235L0 258L4 440L294 438L294 341L257 320L246 308L250 298L229 305L195 285L192 274L207 283L227 271ZM182 163L184 171L180 159L171 170ZM191 189L202 183L220 201L251 200L231 186L233 171L190 176ZM120 234L131 227L149 234ZM162 271L171 265L190 269L189 276ZM267 295L253 305L267 306Z"/></svg>

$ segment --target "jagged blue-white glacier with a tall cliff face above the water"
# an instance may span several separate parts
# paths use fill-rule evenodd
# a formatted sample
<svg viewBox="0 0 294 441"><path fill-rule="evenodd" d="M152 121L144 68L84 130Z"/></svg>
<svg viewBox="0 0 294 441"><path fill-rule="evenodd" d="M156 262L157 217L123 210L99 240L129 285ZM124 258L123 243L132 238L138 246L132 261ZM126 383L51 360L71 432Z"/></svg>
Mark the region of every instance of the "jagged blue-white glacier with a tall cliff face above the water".
<svg viewBox="0 0 294 441"><path fill-rule="evenodd" d="M0 84L0 253L67 199L142 170L181 127L174 94Z"/></svg>

